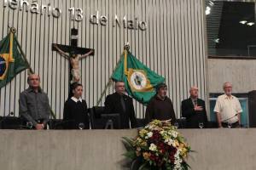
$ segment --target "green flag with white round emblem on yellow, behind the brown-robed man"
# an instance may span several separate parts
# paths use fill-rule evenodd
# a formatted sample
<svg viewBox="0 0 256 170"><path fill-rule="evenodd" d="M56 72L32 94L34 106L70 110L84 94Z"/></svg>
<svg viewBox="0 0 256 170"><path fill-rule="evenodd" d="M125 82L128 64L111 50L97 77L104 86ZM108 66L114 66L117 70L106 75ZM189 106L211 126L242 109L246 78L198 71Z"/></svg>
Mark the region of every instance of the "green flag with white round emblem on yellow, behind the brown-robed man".
<svg viewBox="0 0 256 170"><path fill-rule="evenodd" d="M126 49L113 71L113 81L125 82L126 92L142 104L148 104L154 96L154 88L165 78L151 71Z"/></svg>

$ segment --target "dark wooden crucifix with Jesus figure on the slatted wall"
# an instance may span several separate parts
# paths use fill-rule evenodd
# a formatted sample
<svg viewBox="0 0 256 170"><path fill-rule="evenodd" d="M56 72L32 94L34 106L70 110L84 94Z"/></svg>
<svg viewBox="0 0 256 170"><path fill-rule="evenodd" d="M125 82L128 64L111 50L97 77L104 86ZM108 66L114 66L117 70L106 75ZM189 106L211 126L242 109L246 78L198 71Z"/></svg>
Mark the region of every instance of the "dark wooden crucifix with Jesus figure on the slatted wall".
<svg viewBox="0 0 256 170"><path fill-rule="evenodd" d="M89 55L94 55L94 49L78 47L78 30L75 28L71 29L70 43L70 46L57 43L52 44L53 51L57 51L69 60L69 88L73 82L80 81L81 74L79 68L79 60L84 59Z"/></svg>

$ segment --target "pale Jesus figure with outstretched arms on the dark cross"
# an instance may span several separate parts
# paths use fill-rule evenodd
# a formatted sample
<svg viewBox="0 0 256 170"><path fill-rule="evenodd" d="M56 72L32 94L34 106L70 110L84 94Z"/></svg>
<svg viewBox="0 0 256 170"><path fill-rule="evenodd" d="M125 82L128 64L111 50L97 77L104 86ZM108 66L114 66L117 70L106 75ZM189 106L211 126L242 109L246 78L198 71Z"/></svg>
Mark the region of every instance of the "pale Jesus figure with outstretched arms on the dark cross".
<svg viewBox="0 0 256 170"><path fill-rule="evenodd" d="M74 51L71 51L69 53L62 51L61 48L59 48L56 44L54 44L54 47L60 54L62 54L66 59L69 60L71 66L72 66L71 74L72 74L73 79L71 80L71 82L72 83L79 82L80 77L81 77L80 68L79 68L79 60L92 54L93 50L90 50L90 52L88 52L87 54L75 54Z"/></svg>

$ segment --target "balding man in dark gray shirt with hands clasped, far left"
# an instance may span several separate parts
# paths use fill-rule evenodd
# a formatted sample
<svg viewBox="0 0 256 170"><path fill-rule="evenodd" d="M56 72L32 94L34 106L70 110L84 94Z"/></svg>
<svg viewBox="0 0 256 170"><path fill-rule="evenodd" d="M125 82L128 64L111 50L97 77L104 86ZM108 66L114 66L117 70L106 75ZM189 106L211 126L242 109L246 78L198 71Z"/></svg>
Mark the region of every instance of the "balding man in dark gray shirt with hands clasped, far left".
<svg viewBox="0 0 256 170"><path fill-rule="evenodd" d="M29 88L20 94L20 116L31 122L33 129L41 130L49 122L49 99L40 88L40 77L32 74L27 77Z"/></svg>

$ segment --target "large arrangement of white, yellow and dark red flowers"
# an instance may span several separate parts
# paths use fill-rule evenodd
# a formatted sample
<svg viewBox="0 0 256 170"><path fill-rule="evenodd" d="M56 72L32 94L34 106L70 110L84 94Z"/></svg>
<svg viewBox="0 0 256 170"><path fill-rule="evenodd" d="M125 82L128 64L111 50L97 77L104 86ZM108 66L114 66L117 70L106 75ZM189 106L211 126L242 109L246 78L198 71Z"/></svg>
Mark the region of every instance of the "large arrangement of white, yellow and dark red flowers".
<svg viewBox="0 0 256 170"><path fill-rule="evenodd" d="M127 150L124 156L132 160L131 169L189 169L185 159L190 146L171 122L154 120L139 130L137 138L123 137L123 143Z"/></svg>

